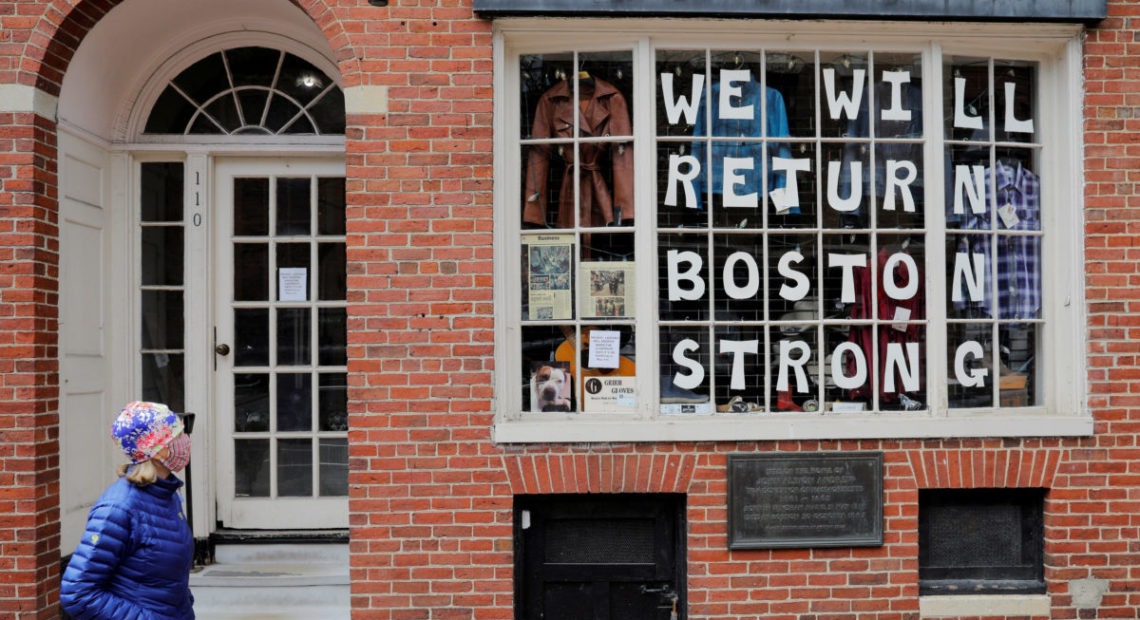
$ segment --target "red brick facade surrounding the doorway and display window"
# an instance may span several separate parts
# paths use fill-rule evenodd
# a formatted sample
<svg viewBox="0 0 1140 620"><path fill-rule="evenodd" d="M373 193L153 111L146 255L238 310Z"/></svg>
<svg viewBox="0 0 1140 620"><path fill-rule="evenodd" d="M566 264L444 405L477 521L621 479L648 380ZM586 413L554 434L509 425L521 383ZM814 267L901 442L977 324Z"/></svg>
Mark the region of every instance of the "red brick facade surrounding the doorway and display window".
<svg viewBox="0 0 1140 620"><path fill-rule="evenodd" d="M114 5L0 1L0 85L58 95ZM298 5L345 85L389 87L347 131L353 618L513 618L515 493L677 492L690 618L917 619L919 490L1005 487L1050 489L1051 618L1137 618L1140 3L1110 1L1084 52L1093 437L527 447L491 441L491 23L470 0ZM56 201L54 122L0 112L0 618L21 620L57 615ZM728 550L726 455L777 450L881 450L883 546ZM1074 606L1082 579L1099 606Z"/></svg>

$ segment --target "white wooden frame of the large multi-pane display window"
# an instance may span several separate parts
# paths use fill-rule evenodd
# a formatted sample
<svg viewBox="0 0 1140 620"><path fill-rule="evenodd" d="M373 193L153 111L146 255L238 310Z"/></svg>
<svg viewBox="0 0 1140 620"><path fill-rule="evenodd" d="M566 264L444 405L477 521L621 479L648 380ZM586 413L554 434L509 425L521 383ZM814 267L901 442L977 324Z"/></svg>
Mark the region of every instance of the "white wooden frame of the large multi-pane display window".
<svg viewBox="0 0 1140 620"><path fill-rule="evenodd" d="M512 18L495 24L495 308L494 440L519 442L731 441L904 439L946 437L1080 437L1093 431L1088 410L1083 275L1082 28L1065 24L935 24L889 22L657 21ZM657 170L644 154L656 148L653 50L657 48L920 50L923 75L942 83L940 55L995 56L1040 63L1040 178L1048 196L1042 253L1051 270L1042 301L1039 361L1042 384L1034 407L950 409L945 380L945 256L927 256L927 411L858 414L660 415L656 364L638 373L635 414L527 413L518 383L521 351L519 56L569 50L632 49L636 210L652 210ZM649 78L649 79L646 79ZM940 89L938 89L940 90ZM928 93L928 101L940 93ZM942 204L943 125L926 114L928 205ZM940 242L942 218L929 218L927 237ZM653 248L653 227L636 228L640 252ZM930 244L931 247L942 247ZM644 254L642 254L644 255ZM657 283L657 262L638 261L640 283ZM657 297L637 296L637 359L657 359ZM644 318L642 318L644 317ZM651 320L652 317L654 320ZM943 374L942 376L945 376Z"/></svg>

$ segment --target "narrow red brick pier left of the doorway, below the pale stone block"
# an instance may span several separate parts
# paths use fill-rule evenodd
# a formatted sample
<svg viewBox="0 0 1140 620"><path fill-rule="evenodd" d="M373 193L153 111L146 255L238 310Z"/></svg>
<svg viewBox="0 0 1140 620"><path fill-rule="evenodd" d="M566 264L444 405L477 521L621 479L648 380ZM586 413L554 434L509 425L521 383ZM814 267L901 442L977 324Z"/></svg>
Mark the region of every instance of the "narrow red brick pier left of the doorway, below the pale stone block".
<svg viewBox="0 0 1140 620"><path fill-rule="evenodd" d="M50 610L59 563L55 146L0 114L0 618Z"/></svg>

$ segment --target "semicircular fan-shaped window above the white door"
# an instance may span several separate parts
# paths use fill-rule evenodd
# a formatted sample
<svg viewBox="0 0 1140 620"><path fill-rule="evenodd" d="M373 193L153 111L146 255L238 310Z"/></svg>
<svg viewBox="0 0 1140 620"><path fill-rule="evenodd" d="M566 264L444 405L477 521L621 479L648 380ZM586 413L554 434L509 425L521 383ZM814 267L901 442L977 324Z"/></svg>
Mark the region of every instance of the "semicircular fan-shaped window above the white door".
<svg viewBox="0 0 1140 620"><path fill-rule="evenodd" d="M145 133L339 136L344 93L308 60L261 47L212 54L163 90Z"/></svg>

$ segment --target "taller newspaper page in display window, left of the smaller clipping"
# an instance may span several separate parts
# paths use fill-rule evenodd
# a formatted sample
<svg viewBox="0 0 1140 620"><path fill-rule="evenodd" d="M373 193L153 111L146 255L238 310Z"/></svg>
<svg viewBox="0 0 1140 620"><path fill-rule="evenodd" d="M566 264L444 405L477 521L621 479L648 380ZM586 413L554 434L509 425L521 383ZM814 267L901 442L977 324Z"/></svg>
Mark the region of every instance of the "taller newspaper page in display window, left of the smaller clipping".
<svg viewBox="0 0 1140 620"><path fill-rule="evenodd" d="M573 235L535 235L527 245L530 320L569 319L573 311Z"/></svg>

